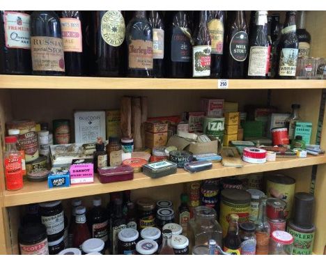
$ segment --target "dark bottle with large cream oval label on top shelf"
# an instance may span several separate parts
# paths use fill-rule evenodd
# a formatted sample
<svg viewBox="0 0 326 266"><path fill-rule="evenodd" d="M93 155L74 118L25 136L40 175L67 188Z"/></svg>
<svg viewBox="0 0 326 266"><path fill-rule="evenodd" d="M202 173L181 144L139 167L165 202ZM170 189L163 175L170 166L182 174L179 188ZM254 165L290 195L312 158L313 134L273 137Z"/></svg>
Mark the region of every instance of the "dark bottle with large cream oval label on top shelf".
<svg viewBox="0 0 326 266"><path fill-rule="evenodd" d="M90 46L95 75L120 77L125 72L125 19L121 11L102 10L91 14ZM125 56L125 57L124 57Z"/></svg>

